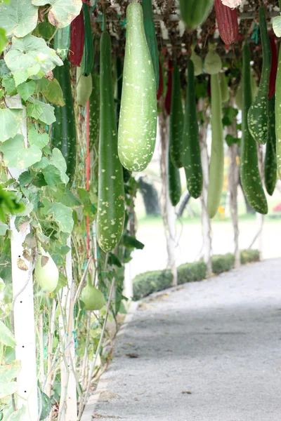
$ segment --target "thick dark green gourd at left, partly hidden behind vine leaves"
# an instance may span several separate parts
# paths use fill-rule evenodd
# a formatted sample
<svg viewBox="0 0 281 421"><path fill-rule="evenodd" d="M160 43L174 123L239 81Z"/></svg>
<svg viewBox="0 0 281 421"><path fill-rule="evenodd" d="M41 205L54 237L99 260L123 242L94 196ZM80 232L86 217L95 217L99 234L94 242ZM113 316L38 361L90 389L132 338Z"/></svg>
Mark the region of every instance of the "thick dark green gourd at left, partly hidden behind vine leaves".
<svg viewBox="0 0 281 421"><path fill-rule="evenodd" d="M65 60L63 66L53 69L55 79L60 83L63 90L65 105L55 105L55 123L51 129L51 143L62 152L67 165L67 175L70 178L70 186L73 183L76 169L76 126L73 107L73 98L70 81L70 65Z"/></svg>

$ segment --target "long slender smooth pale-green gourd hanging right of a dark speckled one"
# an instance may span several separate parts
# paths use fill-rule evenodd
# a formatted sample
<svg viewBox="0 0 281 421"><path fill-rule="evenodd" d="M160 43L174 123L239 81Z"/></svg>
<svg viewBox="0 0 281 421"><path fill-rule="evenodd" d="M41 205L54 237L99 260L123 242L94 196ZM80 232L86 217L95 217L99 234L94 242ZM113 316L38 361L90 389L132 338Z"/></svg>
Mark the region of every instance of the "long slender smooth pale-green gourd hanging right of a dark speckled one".
<svg viewBox="0 0 281 421"><path fill-rule="evenodd" d="M221 86L218 73L211 74L211 159L207 210L214 218L223 189L223 125L221 122Z"/></svg>

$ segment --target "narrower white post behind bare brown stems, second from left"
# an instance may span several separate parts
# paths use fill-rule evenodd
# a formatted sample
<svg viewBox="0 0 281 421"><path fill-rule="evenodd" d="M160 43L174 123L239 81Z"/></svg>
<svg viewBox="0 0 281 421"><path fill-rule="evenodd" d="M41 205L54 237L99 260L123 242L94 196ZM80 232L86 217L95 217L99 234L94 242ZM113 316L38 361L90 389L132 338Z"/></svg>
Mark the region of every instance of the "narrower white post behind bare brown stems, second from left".
<svg viewBox="0 0 281 421"><path fill-rule="evenodd" d="M65 340L65 360L60 365L60 380L62 396L60 405L63 405L61 420L76 421L77 420L77 394L76 394L76 380L75 380L75 342L74 334L72 333L74 327L74 295L75 284L72 279L72 251L71 239L67 239L67 246L70 251L66 255L66 273L68 285L63 288L62 293L62 308L65 309L66 314L66 330L62 329L63 340ZM60 316L60 326L63 327L62 315ZM67 367L65 366L65 361ZM63 390L67 389L65 401Z"/></svg>

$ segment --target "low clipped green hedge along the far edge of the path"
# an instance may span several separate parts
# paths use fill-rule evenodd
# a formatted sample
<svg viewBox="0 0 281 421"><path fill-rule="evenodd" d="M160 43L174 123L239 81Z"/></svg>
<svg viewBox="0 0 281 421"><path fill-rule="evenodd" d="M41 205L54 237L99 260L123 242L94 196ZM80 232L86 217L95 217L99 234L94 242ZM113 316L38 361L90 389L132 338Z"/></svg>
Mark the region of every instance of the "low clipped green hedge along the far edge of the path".
<svg viewBox="0 0 281 421"><path fill-rule="evenodd" d="M259 250L242 250L241 263L259 261ZM233 253L225 255L214 255L211 258L212 271L214 274L221 274L233 269L235 256ZM186 282L201 281L206 277L207 266L202 260L199 262L185 263L178 267L178 284ZM155 293L171 287L173 276L169 269L155 270L139 274L133 279L133 300L140 300L146 295Z"/></svg>

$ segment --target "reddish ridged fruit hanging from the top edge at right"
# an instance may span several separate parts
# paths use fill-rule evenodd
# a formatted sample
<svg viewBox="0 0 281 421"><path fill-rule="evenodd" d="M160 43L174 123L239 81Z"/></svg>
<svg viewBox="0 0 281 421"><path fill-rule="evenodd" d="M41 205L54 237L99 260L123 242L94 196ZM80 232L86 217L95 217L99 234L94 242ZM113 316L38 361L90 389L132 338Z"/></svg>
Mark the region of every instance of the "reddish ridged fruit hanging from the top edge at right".
<svg viewBox="0 0 281 421"><path fill-rule="evenodd" d="M215 0L215 11L221 39L227 46L234 44L238 40L237 9L225 6L221 0Z"/></svg>

